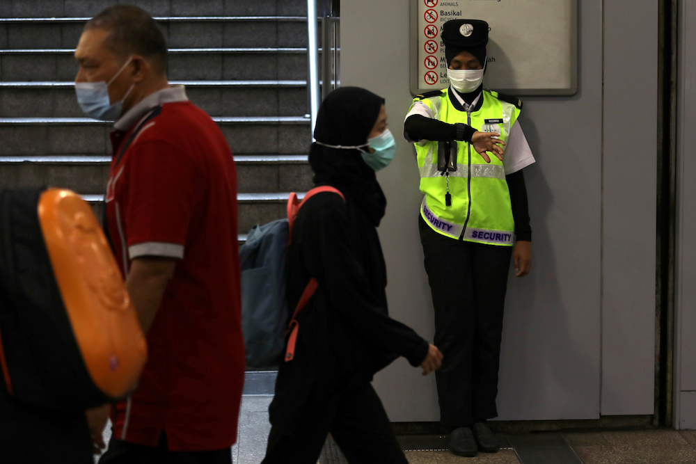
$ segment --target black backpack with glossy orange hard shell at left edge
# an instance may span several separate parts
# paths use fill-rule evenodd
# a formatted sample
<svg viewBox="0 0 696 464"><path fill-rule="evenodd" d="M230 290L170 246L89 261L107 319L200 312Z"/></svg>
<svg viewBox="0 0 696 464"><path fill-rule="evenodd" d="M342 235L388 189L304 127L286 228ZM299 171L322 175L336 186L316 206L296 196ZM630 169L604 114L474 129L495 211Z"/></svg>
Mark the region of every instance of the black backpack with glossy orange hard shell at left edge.
<svg viewBox="0 0 696 464"><path fill-rule="evenodd" d="M145 336L97 218L63 189L0 190L0 387L54 410L125 397Z"/></svg>

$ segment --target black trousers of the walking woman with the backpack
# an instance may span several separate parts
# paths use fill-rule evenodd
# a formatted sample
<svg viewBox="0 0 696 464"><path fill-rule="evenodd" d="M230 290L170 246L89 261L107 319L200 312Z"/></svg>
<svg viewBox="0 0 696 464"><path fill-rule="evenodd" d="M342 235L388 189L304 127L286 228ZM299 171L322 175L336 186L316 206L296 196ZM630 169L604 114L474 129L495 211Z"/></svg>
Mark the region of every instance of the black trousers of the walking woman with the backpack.
<svg viewBox="0 0 696 464"><path fill-rule="evenodd" d="M315 385L308 398L292 436L271 427L262 464L315 464L329 432L351 464L408 464L369 382L338 393Z"/></svg>

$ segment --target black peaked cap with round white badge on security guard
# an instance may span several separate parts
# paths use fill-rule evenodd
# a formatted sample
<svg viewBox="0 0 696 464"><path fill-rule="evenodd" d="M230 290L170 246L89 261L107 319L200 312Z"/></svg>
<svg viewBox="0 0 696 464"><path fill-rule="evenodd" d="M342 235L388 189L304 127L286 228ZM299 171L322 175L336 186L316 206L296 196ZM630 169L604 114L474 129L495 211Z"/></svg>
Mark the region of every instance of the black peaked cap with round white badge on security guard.
<svg viewBox="0 0 696 464"><path fill-rule="evenodd" d="M445 44L448 66L452 58L462 51L468 51L481 65L485 65L488 29L488 23L480 19L451 19L445 22L441 38Z"/></svg>

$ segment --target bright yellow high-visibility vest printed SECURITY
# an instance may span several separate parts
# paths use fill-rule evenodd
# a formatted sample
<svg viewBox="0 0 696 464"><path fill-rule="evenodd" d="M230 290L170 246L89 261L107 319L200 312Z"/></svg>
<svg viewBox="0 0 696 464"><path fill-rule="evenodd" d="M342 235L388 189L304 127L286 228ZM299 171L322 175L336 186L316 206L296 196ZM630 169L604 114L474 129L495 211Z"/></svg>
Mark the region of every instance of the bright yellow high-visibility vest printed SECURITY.
<svg viewBox="0 0 696 464"><path fill-rule="evenodd" d="M507 141L519 117L521 102L491 90L484 90L482 99L480 109L471 113L454 108L448 90L439 95L419 95L413 102L426 104L437 120L449 124L464 122L478 131L497 132ZM415 145L420 191L425 193L420 215L425 222L453 239L512 246L515 224L503 161L489 152L491 162L487 163L473 145L457 141L457 170L445 176L438 170L438 142L420 141ZM450 206L445 202L448 184Z"/></svg>

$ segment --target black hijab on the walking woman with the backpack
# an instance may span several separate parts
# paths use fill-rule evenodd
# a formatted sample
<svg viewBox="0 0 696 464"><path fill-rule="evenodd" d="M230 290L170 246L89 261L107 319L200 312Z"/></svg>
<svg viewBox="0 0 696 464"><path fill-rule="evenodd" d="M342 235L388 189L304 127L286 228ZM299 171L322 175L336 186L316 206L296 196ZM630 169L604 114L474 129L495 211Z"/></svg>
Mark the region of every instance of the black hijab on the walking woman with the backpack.
<svg viewBox="0 0 696 464"><path fill-rule="evenodd" d="M366 145L383 104L382 97L364 88L338 88L319 107L314 138L327 145ZM315 184L329 184L347 193L370 223L374 227L379 225L386 209L386 197L377 182L377 175L363 161L360 150L313 143L309 162L315 173Z"/></svg>

